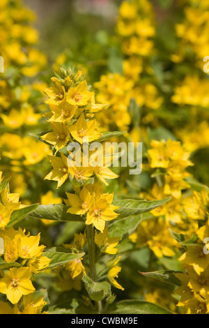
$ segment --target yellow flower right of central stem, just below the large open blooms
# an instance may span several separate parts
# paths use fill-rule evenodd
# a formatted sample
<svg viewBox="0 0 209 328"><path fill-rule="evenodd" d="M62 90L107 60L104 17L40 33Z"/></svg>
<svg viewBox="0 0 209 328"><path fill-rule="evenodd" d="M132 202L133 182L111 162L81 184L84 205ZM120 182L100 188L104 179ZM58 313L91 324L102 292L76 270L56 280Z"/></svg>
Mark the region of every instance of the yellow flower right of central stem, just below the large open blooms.
<svg viewBox="0 0 209 328"><path fill-rule="evenodd" d="M104 229L104 232L95 232L95 244L99 246L102 252L107 254L116 254L118 249L116 246L121 237L108 237L108 227Z"/></svg>

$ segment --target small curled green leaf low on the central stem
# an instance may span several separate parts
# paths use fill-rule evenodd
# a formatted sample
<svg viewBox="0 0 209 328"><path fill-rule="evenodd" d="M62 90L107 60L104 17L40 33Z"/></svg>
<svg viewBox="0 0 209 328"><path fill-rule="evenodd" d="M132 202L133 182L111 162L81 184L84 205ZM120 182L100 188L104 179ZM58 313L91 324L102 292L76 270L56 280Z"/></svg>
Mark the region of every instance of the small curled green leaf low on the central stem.
<svg viewBox="0 0 209 328"><path fill-rule="evenodd" d="M103 281L102 283L95 283L88 276L83 276L82 280L85 283L89 297L93 301L102 301L104 297L109 297L111 295L111 287L107 281Z"/></svg>

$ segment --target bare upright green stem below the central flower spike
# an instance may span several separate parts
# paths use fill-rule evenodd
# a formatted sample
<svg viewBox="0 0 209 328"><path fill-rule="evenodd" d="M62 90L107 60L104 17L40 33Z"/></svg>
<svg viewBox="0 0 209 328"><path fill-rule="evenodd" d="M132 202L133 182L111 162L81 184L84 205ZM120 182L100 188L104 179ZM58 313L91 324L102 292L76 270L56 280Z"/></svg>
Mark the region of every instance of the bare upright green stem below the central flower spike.
<svg viewBox="0 0 209 328"><path fill-rule="evenodd" d="M97 274L95 269L95 241L93 225L87 225L87 239L88 239L88 258L90 274L93 281L96 281Z"/></svg>

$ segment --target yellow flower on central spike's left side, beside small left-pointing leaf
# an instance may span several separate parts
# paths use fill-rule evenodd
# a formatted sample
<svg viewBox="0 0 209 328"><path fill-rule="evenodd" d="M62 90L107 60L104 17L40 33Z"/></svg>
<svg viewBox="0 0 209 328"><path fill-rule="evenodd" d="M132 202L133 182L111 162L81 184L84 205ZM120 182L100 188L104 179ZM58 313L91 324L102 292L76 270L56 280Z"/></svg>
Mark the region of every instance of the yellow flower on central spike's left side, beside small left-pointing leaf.
<svg viewBox="0 0 209 328"><path fill-rule="evenodd" d="M52 126L53 132L42 135L41 138L49 142L49 144L53 144L57 152L68 143L70 132L68 127L62 123L50 122L50 125Z"/></svg>

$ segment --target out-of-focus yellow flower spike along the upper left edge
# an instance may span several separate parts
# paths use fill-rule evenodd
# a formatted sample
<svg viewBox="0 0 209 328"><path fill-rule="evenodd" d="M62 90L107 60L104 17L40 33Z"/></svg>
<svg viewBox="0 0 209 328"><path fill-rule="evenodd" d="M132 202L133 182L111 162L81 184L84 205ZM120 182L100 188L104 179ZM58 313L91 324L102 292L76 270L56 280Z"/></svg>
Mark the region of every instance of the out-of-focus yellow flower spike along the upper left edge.
<svg viewBox="0 0 209 328"><path fill-rule="evenodd" d="M31 167L42 163L49 147L29 136L42 118L42 88L37 79L47 59L36 49L38 32L31 24L33 13L21 1L3 0L0 5L0 54L4 71L0 80L1 170L13 177L11 188L23 193L29 186Z"/></svg>

